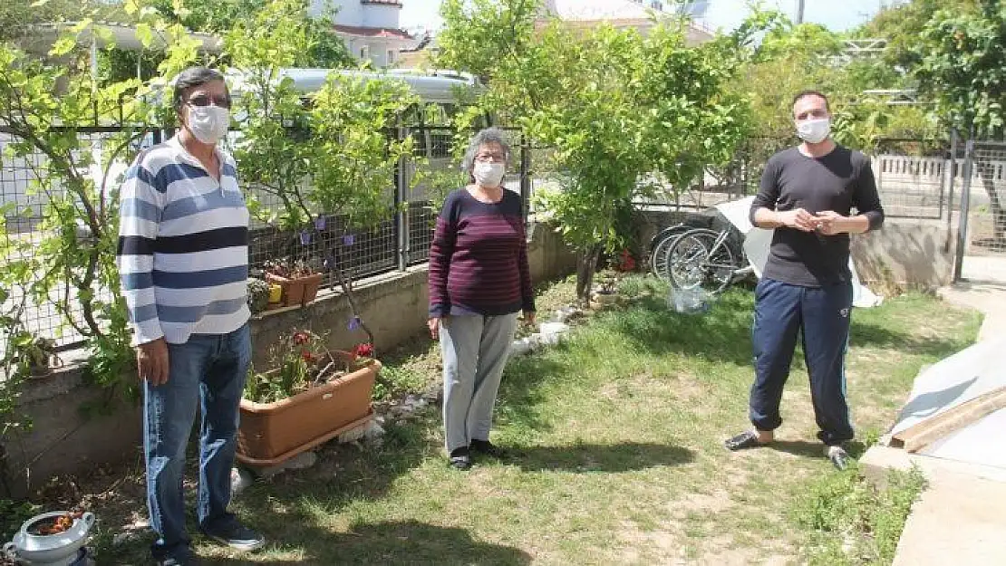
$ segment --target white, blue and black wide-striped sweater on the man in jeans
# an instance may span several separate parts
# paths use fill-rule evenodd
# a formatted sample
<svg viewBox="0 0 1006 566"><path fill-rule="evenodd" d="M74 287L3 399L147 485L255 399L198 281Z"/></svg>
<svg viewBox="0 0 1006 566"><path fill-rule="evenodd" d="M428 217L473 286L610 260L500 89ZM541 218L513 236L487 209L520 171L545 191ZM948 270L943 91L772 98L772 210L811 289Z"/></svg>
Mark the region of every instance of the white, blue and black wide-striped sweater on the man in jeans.
<svg viewBox="0 0 1006 566"><path fill-rule="evenodd" d="M219 182L176 137L126 172L118 263L134 344L226 334L250 316L248 212L233 158L217 157Z"/></svg>

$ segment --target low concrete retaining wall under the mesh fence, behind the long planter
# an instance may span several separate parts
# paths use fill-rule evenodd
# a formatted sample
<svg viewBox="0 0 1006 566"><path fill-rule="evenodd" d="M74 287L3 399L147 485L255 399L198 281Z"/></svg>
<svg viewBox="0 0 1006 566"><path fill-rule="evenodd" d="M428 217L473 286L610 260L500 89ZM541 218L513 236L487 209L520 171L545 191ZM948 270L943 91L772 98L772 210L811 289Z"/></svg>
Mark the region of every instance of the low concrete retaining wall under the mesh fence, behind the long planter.
<svg viewBox="0 0 1006 566"><path fill-rule="evenodd" d="M565 276L576 265L575 255L559 236L541 225L532 234L528 260L534 281ZM425 331L426 264L360 281L356 291L361 314L375 335L378 352L394 348ZM330 346L336 348L351 347L365 340L362 332L347 330L349 313L344 296L327 292L320 294L308 308L256 317L252 323L255 363L260 368L266 367L269 345L295 328L307 327L327 334ZM20 408L33 426L25 434L0 438L0 454L6 453L5 461L0 461L4 479L0 482L0 497L24 497L55 476L75 475L104 463L141 458L139 403L120 401L108 416L86 417L81 405L101 399L104 391L85 383L82 363L67 362L60 371L31 379L25 385ZM3 494L4 491L10 493Z"/></svg>

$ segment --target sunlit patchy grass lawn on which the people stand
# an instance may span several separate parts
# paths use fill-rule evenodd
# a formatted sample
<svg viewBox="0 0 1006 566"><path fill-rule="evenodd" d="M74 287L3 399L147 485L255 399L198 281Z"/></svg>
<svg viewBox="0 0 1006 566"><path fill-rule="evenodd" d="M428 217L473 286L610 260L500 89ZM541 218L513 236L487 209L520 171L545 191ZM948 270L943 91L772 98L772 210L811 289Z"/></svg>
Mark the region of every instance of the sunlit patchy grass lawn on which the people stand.
<svg viewBox="0 0 1006 566"><path fill-rule="evenodd" d="M432 408L388 426L379 447L327 446L315 466L241 494L234 508L267 535L266 551L232 554L201 540L197 551L216 564L889 561L878 546L896 543L896 520L919 486L905 478L877 494L831 467L815 440L799 354L777 447L723 449L723 438L747 426L750 292L732 290L704 316L683 316L650 282L628 281L627 291L637 299L625 309L510 362L493 439L516 452L511 459L449 469ZM545 290L539 312L570 294L569 282ZM861 438L892 422L921 366L966 347L979 325L977 315L923 295L857 311L853 321L848 390ZM410 348L386 360L383 395L438 379L436 350ZM135 467L115 489L80 496L101 517L100 563L144 561L146 535L112 543L144 515L140 475ZM867 507L889 513L871 523Z"/></svg>

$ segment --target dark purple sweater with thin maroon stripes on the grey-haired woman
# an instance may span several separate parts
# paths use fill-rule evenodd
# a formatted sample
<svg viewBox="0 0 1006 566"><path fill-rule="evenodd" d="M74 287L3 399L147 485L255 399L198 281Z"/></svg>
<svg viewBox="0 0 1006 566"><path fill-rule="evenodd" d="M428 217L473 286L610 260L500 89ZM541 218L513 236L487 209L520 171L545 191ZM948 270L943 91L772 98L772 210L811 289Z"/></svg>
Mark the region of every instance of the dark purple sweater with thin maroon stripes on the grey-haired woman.
<svg viewBox="0 0 1006 566"><path fill-rule="evenodd" d="M448 195L430 248L430 316L534 311L520 196L484 203Z"/></svg>

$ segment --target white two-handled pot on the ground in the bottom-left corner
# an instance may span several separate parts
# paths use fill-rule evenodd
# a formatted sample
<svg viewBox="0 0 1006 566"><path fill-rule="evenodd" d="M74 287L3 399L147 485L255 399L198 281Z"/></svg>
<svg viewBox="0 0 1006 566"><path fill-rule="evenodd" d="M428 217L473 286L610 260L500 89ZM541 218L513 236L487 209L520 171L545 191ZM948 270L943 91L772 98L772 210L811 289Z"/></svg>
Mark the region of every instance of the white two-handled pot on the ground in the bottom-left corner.
<svg viewBox="0 0 1006 566"><path fill-rule="evenodd" d="M29 529L42 522L65 515L54 511L36 515L21 525L11 542L3 546L4 554L23 564L38 566L70 566L76 562L80 547L88 542L88 533L95 525L95 514L85 513L73 526L55 535L32 535Z"/></svg>

